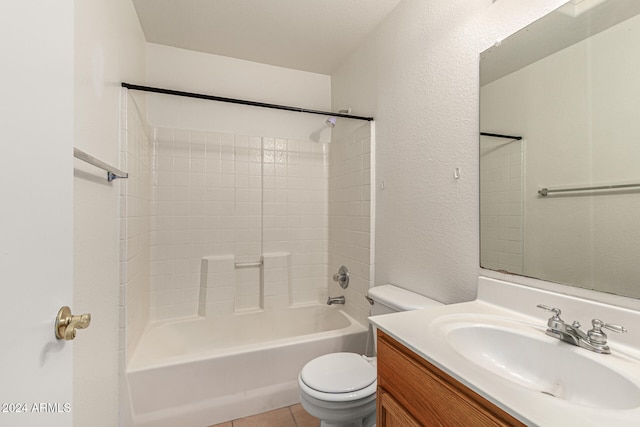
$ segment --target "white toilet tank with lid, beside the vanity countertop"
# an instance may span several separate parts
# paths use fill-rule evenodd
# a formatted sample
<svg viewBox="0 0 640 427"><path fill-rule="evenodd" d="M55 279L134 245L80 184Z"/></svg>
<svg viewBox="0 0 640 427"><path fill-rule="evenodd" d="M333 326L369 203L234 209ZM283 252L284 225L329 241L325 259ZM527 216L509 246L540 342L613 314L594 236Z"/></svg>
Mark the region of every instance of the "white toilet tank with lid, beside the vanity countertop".
<svg viewBox="0 0 640 427"><path fill-rule="evenodd" d="M442 305L438 301L392 284L375 286L369 289L368 295L373 300L373 305L371 306L372 316Z"/></svg>

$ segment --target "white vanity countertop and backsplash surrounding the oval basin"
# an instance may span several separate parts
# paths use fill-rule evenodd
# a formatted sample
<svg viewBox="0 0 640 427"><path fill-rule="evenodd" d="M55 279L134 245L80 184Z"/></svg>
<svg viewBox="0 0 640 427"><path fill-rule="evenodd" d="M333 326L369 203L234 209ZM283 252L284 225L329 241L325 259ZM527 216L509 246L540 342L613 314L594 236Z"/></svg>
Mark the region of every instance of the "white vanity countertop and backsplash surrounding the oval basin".
<svg viewBox="0 0 640 427"><path fill-rule="evenodd" d="M537 309L537 304L561 308L567 323L579 320L590 325L592 318L600 318L626 326L629 333L608 333L611 354L597 354L545 335L550 313ZM535 334L536 339L539 333L541 340L601 362L640 389L640 313L481 277L475 301L369 318L376 327L527 425L640 426L640 406L632 409L584 406L534 391L475 364L446 341L446 331L441 326L443 320L451 319L468 324L508 319L517 328ZM589 372L582 374L588 377Z"/></svg>

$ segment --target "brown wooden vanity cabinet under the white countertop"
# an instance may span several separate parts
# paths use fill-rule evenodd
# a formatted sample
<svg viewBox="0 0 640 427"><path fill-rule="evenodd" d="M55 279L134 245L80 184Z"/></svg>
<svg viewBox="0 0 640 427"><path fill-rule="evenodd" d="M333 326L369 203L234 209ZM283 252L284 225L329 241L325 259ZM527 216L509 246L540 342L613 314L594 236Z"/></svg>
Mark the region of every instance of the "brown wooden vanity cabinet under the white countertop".
<svg viewBox="0 0 640 427"><path fill-rule="evenodd" d="M378 330L378 427L525 426Z"/></svg>

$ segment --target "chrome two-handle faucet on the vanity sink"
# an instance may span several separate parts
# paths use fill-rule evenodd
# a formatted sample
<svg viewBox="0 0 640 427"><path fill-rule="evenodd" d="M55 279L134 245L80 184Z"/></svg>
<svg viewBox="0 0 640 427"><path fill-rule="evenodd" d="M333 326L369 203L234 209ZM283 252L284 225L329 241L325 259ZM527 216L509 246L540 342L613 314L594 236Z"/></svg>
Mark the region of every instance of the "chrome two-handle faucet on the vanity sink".
<svg viewBox="0 0 640 427"><path fill-rule="evenodd" d="M591 321L593 328L585 333L580 329L580 322L573 321L571 325L565 323L564 320L560 318L561 311L559 308L549 307L544 304L538 304L537 307L553 313L553 316L547 321L547 335L568 342L569 344L595 351L596 353L611 353L611 349L607 345L607 335L602 332L602 328L618 333L627 332L624 326L613 325L599 319L593 319Z"/></svg>

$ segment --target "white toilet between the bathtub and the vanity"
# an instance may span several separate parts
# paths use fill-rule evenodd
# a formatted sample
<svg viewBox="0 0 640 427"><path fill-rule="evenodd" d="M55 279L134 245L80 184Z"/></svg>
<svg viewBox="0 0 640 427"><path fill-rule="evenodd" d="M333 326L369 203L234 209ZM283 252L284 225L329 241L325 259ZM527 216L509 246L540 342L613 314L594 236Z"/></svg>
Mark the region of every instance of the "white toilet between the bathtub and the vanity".
<svg viewBox="0 0 640 427"><path fill-rule="evenodd" d="M372 316L442 305L395 285L371 288L369 298ZM356 353L316 357L298 375L300 402L321 427L374 426L377 385L376 358Z"/></svg>

